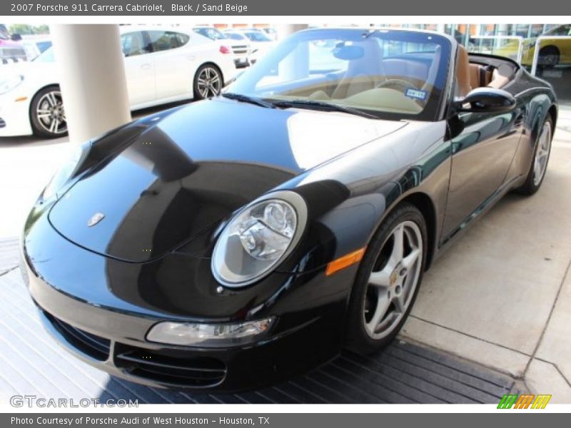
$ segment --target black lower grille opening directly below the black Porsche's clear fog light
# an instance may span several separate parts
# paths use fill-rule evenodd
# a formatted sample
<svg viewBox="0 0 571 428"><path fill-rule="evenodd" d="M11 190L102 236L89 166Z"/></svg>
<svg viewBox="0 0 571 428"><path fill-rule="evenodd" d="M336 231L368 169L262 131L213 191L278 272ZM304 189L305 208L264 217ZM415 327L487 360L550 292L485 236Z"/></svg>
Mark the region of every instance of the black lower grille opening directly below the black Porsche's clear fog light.
<svg viewBox="0 0 571 428"><path fill-rule="evenodd" d="M226 365L216 358L173 357L160 351L116 345L116 367L133 376L178 387L214 387L226 377Z"/></svg>

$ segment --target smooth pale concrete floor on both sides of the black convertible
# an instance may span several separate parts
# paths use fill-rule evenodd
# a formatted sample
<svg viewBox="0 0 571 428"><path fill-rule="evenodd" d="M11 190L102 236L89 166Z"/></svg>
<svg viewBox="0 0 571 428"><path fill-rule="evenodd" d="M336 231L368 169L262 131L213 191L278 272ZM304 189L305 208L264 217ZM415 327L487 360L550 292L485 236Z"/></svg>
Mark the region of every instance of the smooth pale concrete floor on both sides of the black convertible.
<svg viewBox="0 0 571 428"><path fill-rule="evenodd" d="M19 235L66 139L0 139L0 240ZM531 198L507 195L425 276L405 340L522 379L571 403L571 107L560 113L549 170ZM0 275L2 272L0 272Z"/></svg>

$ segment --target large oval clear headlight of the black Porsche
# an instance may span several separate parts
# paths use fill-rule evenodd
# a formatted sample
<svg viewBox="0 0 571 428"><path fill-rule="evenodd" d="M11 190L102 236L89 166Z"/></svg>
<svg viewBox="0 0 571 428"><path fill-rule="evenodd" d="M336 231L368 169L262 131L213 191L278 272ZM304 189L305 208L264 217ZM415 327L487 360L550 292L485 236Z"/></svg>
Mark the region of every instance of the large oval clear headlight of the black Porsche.
<svg viewBox="0 0 571 428"><path fill-rule="evenodd" d="M293 250L306 220L307 206L297 193L275 192L247 205L218 238L214 277L228 287L260 280Z"/></svg>

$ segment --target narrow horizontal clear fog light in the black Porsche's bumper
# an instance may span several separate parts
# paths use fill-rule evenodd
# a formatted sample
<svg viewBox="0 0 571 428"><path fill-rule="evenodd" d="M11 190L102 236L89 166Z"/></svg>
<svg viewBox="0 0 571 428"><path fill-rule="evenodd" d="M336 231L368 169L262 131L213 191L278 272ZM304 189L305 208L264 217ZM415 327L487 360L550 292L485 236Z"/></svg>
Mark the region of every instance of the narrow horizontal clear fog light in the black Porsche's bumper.
<svg viewBox="0 0 571 428"><path fill-rule="evenodd" d="M150 342L169 345L221 347L253 342L268 332L276 317L235 324L159 322L147 334Z"/></svg>

